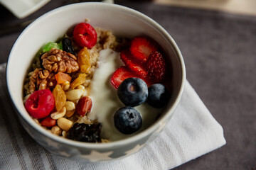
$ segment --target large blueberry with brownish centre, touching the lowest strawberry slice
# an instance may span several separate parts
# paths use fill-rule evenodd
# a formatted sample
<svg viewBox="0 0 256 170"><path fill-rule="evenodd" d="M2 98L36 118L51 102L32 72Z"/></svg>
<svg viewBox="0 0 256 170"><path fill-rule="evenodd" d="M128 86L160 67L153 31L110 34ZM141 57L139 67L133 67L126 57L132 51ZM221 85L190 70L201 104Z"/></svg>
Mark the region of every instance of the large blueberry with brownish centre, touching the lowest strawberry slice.
<svg viewBox="0 0 256 170"><path fill-rule="evenodd" d="M145 81L139 78L128 78L122 81L117 89L117 95L125 106L139 106L146 101L148 89Z"/></svg>

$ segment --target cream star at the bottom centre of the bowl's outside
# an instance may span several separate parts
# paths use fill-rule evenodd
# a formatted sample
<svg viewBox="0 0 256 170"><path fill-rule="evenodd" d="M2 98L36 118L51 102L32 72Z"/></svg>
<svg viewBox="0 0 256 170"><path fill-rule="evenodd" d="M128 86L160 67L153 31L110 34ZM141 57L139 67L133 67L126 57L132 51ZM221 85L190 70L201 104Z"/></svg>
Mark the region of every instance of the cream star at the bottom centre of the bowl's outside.
<svg viewBox="0 0 256 170"><path fill-rule="evenodd" d="M90 162L97 162L100 160L108 160L108 159L112 159L110 157L110 154L112 154L113 151L110 152L97 152L95 150L92 150L90 152L90 154L81 154L81 157L89 159Z"/></svg>

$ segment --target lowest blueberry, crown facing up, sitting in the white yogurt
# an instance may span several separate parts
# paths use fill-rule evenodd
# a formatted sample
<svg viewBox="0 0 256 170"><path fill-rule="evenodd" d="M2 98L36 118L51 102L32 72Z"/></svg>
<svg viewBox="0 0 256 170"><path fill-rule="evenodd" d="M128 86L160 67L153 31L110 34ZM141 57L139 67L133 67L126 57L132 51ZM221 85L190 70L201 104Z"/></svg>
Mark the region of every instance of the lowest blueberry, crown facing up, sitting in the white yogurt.
<svg viewBox="0 0 256 170"><path fill-rule="evenodd" d="M119 108L114 113L114 126L124 134L132 134L142 127L142 115L129 106Z"/></svg>

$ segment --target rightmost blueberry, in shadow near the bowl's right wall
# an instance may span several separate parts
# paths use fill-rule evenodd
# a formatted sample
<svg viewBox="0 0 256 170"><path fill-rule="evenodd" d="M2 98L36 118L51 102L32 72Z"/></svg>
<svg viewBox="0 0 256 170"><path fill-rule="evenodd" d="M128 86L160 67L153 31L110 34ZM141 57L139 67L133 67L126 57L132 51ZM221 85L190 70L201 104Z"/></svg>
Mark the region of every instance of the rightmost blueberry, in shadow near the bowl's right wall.
<svg viewBox="0 0 256 170"><path fill-rule="evenodd" d="M153 84L149 87L149 97L146 102L154 108L162 108L166 106L169 98L169 91L163 84Z"/></svg>

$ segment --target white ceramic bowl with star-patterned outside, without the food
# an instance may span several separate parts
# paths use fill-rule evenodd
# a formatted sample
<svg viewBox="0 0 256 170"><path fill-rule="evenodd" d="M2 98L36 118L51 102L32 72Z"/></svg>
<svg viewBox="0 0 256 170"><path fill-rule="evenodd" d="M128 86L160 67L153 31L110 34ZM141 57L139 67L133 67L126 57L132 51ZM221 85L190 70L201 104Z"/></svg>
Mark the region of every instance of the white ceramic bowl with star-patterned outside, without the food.
<svg viewBox="0 0 256 170"><path fill-rule="evenodd" d="M164 113L146 130L125 140L109 143L87 143L53 135L38 125L23 105L23 81L33 57L43 44L62 37L70 26L90 18L90 24L111 30L114 35L133 38L148 35L156 40L170 60L173 91ZM23 127L36 142L49 152L79 158L82 161L101 162L128 156L154 140L173 115L183 93L186 71L178 46L171 35L158 23L131 8L105 3L81 3L56 8L31 23L18 37L11 49L6 69L9 95Z"/></svg>

